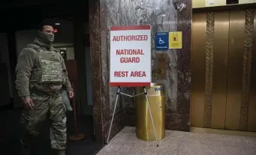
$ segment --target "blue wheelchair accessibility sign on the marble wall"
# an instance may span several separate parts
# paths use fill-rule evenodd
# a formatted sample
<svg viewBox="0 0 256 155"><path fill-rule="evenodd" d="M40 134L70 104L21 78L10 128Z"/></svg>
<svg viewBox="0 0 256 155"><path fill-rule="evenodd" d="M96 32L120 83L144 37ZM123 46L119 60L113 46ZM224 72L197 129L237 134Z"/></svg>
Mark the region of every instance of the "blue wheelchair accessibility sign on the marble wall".
<svg viewBox="0 0 256 155"><path fill-rule="evenodd" d="M155 33L155 50L169 49L169 33L161 32Z"/></svg>

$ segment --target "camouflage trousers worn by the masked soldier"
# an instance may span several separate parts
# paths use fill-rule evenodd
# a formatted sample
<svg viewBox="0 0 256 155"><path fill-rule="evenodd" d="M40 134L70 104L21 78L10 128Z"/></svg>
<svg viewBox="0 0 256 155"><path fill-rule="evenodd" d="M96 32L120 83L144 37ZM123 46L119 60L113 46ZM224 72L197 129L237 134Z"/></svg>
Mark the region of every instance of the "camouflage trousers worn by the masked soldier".
<svg viewBox="0 0 256 155"><path fill-rule="evenodd" d="M33 109L24 109L20 123L23 133L20 142L29 146L38 136L42 122L50 119L50 141L54 150L65 150L67 142L66 109L61 94L32 93Z"/></svg>

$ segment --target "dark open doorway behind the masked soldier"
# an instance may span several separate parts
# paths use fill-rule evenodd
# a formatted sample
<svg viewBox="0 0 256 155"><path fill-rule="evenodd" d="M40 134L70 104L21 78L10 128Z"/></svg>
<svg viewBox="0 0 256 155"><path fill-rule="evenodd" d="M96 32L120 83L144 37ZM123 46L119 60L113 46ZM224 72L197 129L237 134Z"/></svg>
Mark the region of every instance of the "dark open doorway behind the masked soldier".
<svg viewBox="0 0 256 155"><path fill-rule="evenodd" d="M8 59L5 64L6 76L10 81L6 88L12 100L7 100L4 106L0 106L0 145L5 154L16 155L20 151L20 112L22 106L15 90L15 66L20 50L31 43L35 37L38 22L41 19L53 19L56 21L58 31L53 46L62 52L67 60L75 60L77 64L77 84L75 88L75 100L77 105L77 127L80 133L86 135L86 139L77 142L68 142L67 154L85 155L95 154L102 148L101 143L95 142L94 122L92 115L92 85L87 70L91 63L89 44L84 40L89 36L85 31L89 19L88 4L41 4L33 7L20 7L14 10L2 10L2 19L6 21L0 26L0 32L6 35L8 43ZM11 15L13 14L13 15ZM10 16L9 16L10 15ZM87 38L88 39L88 38ZM2 46L2 43L0 43ZM1 48L0 48L1 49ZM1 52L2 53L2 52ZM0 57L1 58L1 57ZM2 60L4 58L1 58ZM86 62L87 61L87 62ZM4 66L4 65L2 65ZM1 68L2 69L2 68ZM91 71L89 71L90 73ZM5 82L6 83L6 82ZM6 96L6 95L5 95ZM15 108L14 108L15 107ZM74 115L67 112L68 134L74 134ZM35 142L35 151L38 154L51 154L49 140L50 122L45 121L44 128Z"/></svg>

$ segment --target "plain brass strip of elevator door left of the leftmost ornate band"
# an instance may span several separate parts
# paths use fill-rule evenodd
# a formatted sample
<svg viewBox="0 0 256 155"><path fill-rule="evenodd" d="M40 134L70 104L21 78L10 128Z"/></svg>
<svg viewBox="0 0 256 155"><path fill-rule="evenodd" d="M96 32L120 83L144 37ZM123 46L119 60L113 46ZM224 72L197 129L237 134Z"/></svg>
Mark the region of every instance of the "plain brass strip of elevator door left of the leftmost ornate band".
<svg viewBox="0 0 256 155"><path fill-rule="evenodd" d="M206 13L193 13L191 53L191 126L203 127Z"/></svg>

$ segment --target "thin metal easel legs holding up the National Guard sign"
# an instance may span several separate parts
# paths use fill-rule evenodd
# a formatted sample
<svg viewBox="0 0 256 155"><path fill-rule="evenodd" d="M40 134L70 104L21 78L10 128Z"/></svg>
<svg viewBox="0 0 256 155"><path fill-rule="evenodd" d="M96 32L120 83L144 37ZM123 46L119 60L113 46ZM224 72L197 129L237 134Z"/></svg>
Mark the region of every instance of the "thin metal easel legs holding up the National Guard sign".
<svg viewBox="0 0 256 155"><path fill-rule="evenodd" d="M132 94L132 95L129 95L129 94L122 93L122 92L121 92L121 87L118 87L118 88L117 88L117 92L116 92L116 102L115 102L115 106L114 106L114 111L113 111L112 119L111 119L111 122L110 122L110 130L109 130L108 136L107 136L107 144L108 144L109 139L110 139L111 128L112 128L113 119L114 119L114 116L115 116L115 113L116 113L116 104L117 104L117 102L118 102L118 100L119 100L119 95L122 94L122 95L125 95L125 96L127 96L127 97L137 97L137 96L140 96L140 95L143 95L143 94L144 94L145 97L146 97L146 104L147 104L147 106L149 107L149 115L150 115L150 118L151 118L151 123L152 123L153 130L154 130L156 145L158 146L158 139L156 138L156 133L155 133L155 124L154 124L154 121L153 121L153 118L152 118L151 109L150 109L150 106L149 106L149 97L148 97L148 94L147 94L147 91L146 91L146 87L143 87L143 90L144 90L143 93L135 94L135 95L134 95L134 91L133 91L133 94Z"/></svg>

